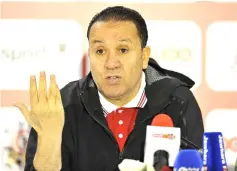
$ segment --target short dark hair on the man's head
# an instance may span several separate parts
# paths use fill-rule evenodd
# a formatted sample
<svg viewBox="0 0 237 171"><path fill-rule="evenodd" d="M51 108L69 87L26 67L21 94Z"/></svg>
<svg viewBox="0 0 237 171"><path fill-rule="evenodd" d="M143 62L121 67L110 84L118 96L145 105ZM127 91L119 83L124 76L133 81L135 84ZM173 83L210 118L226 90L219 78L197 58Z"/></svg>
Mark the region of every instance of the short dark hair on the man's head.
<svg viewBox="0 0 237 171"><path fill-rule="evenodd" d="M89 40L89 34L91 27L97 21L131 21L136 25L138 35L141 40L141 46L144 48L148 40L148 31L144 18L137 11L126 8L123 6L108 7L96 14L89 23L87 29L87 38Z"/></svg>

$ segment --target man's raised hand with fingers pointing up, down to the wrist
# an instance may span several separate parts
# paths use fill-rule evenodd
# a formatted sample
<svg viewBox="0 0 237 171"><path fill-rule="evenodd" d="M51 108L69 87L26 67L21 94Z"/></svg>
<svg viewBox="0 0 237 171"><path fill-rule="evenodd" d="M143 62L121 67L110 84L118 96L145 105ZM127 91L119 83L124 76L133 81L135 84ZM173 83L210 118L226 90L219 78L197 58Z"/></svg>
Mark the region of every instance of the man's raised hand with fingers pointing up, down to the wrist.
<svg viewBox="0 0 237 171"><path fill-rule="evenodd" d="M25 104L16 103L26 121L36 130L38 136L44 138L62 135L64 126L64 110L55 76L50 76L47 90L46 74L40 73L37 89L35 76L30 77L30 109Z"/></svg>

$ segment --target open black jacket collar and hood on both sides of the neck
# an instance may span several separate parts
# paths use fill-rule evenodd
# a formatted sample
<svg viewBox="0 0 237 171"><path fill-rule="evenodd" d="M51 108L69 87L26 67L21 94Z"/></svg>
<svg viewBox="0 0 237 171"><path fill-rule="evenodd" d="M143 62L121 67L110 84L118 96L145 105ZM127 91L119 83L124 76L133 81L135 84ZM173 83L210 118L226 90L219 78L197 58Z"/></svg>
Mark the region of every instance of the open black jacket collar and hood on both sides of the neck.
<svg viewBox="0 0 237 171"><path fill-rule="evenodd" d="M194 82L187 76L161 68L152 58L149 60L149 66L145 70L145 75L145 92L148 99L147 106L149 113L140 116L140 121L143 121L145 118L153 117L161 112L169 104L176 87L183 85L191 88L194 85ZM97 87L92 79L91 73L88 74L80 89L80 98L89 114L93 118L98 119L98 122L107 125Z"/></svg>

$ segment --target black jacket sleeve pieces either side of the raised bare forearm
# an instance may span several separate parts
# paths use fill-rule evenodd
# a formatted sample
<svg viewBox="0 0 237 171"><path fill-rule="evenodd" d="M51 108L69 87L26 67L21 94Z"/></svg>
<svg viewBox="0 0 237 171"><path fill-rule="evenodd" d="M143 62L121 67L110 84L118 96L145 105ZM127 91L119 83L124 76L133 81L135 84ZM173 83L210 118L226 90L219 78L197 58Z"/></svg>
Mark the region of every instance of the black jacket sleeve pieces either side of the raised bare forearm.
<svg viewBox="0 0 237 171"><path fill-rule="evenodd" d="M67 144L65 143L65 135L67 135L67 129L64 127L63 129L63 138L62 138L62 169L61 171L71 171L71 166L69 163L69 150L67 148ZM36 171L33 165L34 156L37 149L37 132L31 128L28 144L26 148L25 155L25 168L24 171Z"/></svg>

